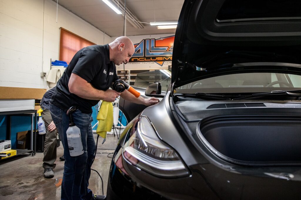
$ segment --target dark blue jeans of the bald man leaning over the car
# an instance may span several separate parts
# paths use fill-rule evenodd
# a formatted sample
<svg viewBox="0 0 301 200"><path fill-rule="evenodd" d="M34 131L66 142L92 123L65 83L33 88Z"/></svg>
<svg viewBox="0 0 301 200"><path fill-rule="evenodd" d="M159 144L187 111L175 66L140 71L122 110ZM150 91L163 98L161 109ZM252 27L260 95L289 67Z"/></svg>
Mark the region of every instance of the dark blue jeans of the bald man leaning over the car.
<svg viewBox="0 0 301 200"><path fill-rule="evenodd" d="M88 185L96 148L91 126L92 116L91 114L82 113L79 109L73 113L74 123L80 129L84 153L72 157L69 153L66 135L69 127L69 116L64 110L51 103L50 113L64 147L65 166L61 199L90 200L93 198L93 193L88 189Z"/></svg>

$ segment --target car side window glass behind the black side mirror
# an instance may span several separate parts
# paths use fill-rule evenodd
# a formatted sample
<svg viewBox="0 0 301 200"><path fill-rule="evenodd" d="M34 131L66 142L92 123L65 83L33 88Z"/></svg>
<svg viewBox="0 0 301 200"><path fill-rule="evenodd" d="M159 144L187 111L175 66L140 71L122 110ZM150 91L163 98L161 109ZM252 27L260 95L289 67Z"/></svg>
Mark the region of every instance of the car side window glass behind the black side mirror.
<svg viewBox="0 0 301 200"><path fill-rule="evenodd" d="M169 70L155 70L137 74L134 87L147 88L152 83L160 82L161 91L166 92L170 81L171 73Z"/></svg>

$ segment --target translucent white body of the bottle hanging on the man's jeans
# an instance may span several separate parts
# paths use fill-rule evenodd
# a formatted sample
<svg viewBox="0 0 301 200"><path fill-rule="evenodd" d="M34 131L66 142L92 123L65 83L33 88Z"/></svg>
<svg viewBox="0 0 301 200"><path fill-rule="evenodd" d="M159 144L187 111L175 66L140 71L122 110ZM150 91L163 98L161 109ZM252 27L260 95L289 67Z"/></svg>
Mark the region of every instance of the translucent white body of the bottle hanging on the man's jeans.
<svg viewBox="0 0 301 200"><path fill-rule="evenodd" d="M82 147L82 138L79 127L69 126L66 134L70 156L82 155L84 153L84 149Z"/></svg>

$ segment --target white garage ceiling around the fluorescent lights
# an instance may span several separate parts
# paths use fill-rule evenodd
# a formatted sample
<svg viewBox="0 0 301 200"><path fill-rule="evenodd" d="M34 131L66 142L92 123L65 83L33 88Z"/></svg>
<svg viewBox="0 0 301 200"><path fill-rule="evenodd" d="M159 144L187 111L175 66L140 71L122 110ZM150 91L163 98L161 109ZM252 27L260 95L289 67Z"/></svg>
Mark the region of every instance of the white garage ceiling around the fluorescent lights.
<svg viewBox="0 0 301 200"><path fill-rule="evenodd" d="M165 22L178 21L183 2L184 0L127 0L126 6L141 22L154 22L155 18L157 22ZM60 0L59 3L111 37L118 37L123 33L123 15L115 13L101 0ZM119 3L124 4L124 0L119 0ZM145 23L144 28L135 28L128 21L126 24L128 36L175 33L175 29L157 29L156 26Z"/></svg>

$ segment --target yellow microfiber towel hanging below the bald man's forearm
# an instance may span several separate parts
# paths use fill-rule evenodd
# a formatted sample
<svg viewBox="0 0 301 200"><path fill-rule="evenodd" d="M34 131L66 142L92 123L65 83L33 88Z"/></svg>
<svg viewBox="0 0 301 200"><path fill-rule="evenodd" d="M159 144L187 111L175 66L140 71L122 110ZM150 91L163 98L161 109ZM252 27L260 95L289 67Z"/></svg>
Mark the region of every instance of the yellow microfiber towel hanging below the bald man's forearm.
<svg viewBox="0 0 301 200"><path fill-rule="evenodd" d="M98 115L98 127L96 133L102 138L107 138L107 132L112 130L113 126L113 104L112 102L103 101L101 103Z"/></svg>

